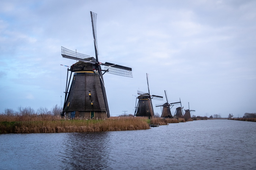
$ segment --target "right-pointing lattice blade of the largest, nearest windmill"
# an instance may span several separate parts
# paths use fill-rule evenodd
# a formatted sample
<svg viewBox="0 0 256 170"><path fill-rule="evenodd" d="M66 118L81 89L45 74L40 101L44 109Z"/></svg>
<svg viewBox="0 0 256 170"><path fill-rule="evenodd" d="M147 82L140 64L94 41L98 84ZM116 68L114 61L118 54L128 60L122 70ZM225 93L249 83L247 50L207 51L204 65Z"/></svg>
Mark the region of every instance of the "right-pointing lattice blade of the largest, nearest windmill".
<svg viewBox="0 0 256 170"><path fill-rule="evenodd" d="M107 73L109 74L132 77L132 68L130 67L120 66L120 65L108 63L108 62L101 63L101 64L105 66L104 70L108 70Z"/></svg>

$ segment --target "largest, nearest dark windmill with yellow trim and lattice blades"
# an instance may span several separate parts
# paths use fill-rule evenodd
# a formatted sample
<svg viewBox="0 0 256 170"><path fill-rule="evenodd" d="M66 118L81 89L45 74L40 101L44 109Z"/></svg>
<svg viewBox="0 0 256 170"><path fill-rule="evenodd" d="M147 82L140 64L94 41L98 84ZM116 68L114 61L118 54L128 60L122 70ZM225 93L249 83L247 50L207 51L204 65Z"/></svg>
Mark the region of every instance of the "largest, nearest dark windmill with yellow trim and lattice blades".
<svg viewBox="0 0 256 170"><path fill-rule="evenodd" d="M61 47L61 55L64 58L78 60L78 62L68 69L68 72L70 71L71 74L69 81L67 74L62 116L66 114L71 118L78 116L86 118L109 118L109 106L103 74L110 73L132 77L132 68L108 62L99 62L96 32L97 14L93 12L90 13L93 27L95 58ZM101 69L101 65L105 66L104 70ZM74 73L74 76L72 78L71 86L69 87L72 73Z"/></svg>

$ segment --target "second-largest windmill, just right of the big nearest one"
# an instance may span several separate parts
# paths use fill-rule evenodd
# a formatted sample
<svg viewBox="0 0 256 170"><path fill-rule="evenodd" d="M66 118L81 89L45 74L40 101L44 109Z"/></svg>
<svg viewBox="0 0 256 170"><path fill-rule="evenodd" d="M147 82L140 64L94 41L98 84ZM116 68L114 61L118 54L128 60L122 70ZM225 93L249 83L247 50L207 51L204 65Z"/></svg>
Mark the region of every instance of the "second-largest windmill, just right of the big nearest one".
<svg viewBox="0 0 256 170"><path fill-rule="evenodd" d="M153 104L152 99L154 100L163 100L162 96L157 95L150 95L149 86L148 86L148 74L147 74L147 87L148 87L148 93L137 91L138 97L136 98L136 103L138 99L137 106L135 106L135 116L147 116L148 118L154 117L154 110L153 110Z"/></svg>

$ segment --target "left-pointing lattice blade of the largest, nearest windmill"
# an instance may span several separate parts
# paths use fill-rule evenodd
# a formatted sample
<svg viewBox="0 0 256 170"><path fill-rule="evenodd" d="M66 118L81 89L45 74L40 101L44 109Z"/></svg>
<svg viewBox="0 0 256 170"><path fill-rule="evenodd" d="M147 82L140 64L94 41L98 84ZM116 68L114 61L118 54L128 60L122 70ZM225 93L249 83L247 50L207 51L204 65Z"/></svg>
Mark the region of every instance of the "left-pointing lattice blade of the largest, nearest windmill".
<svg viewBox="0 0 256 170"><path fill-rule="evenodd" d="M67 48L61 47L61 55L64 58L73 59L73 60L79 60L82 62L90 62L95 63L95 59L89 55L81 54L76 51L68 50ZM94 62L93 62L94 60Z"/></svg>

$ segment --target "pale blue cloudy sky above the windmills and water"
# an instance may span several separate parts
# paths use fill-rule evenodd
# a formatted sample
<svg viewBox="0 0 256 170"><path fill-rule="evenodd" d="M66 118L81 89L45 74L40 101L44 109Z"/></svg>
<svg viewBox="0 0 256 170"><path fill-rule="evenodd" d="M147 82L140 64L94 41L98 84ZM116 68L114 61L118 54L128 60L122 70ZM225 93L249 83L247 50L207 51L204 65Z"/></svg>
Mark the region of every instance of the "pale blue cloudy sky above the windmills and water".
<svg viewBox="0 0 256 170"><path fill-rule="evenodd" d="M133 114L146 73L152 95L167 90L196 116L256 112L255 9L255 0L1 0L0 112L63 105L60 64L76 61L61 46L95 56L90 11L99 60L132 68L133 78L104 75L111 116Z"/></svg>

